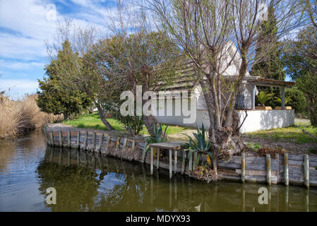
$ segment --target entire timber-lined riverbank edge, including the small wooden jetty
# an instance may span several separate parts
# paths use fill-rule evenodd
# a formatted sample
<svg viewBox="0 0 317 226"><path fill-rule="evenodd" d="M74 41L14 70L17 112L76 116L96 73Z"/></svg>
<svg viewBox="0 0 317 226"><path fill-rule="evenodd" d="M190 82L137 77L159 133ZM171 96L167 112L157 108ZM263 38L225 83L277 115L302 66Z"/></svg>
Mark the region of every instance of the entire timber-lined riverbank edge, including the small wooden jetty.
<svg viewBox="0 0 317 226"><path fill-rule="evenodd" d="M205 168L207 162L205 155L189 153L181 149L181 145L172 147L172 143L157 143L160 147L162 146L160 149L167 150L160 151L160 155L157 155L158 150L152 148L156 147L155 145L151 146L149 153L146 148L148 145L143 137L127 137L120 131L116 131L119 132L118 134L114 132L76 129L69 126L47 126L44 130L47 143L52 146L77 148L124 160L145 162L151 165L151 174L153 165L156 165L157 169L169 169L170 177L173 171L203 180L207 177L200 176L207 173L210 174L207 176L213 179L213 171L210 172L208 169L207 172ZM193 157L189 157L190 154ZM217 160L217 168L220 170L215 179L268 184L284 183L287 186L288 184L317 186L316 156L288 155L285 150L270 148L260 148L258 153L253 154L243 153L241 156L232 156L229 160ZM199 166L202 167L199 168Z"/></svg>

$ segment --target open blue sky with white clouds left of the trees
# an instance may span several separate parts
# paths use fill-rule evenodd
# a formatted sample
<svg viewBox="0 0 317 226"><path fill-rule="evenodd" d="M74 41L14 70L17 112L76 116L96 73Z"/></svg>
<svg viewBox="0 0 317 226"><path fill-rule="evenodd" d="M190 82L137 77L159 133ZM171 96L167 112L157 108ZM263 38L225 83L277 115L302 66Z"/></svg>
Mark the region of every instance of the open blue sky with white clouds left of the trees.
<svg viewBox="0 0 317 226"><path fill-rule="evenodd" d="M1 0L0 90L15 99L35 93L37 78L43 78L49 63L45 41L52 41L56 20L72 18L76 25L104 29L115 4L115 0Z"/></svg>

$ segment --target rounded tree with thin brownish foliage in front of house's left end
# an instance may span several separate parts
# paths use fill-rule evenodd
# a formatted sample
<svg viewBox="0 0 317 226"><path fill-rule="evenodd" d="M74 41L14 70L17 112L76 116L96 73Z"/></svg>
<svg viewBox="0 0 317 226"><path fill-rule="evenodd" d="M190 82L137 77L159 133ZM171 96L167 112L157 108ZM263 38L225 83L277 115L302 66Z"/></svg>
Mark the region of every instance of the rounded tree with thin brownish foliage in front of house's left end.
<svg viewBox="0 0 317 226"><path fill-rule="evenodd" d="M131 1L120 1L107 27L112 33L99 43L97 68L112 90L126 88L136 95L136 85L142 85L143 94L155 91L159 82L173 80L178 49L165 32L152 29L144 11ZM143 118L148 132L155 136L157 119L153 115Z"/></svg>

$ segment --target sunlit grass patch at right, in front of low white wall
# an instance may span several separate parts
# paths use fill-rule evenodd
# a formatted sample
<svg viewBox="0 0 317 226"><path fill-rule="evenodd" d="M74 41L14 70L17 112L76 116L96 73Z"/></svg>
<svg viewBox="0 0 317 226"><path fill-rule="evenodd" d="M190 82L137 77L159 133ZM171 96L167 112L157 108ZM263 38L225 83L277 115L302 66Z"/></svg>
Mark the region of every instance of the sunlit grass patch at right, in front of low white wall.
<svg viewBox="0 0 317 226"><path fill-rule="evenodd" d="M273 141L285 141L292 143L317 143L317 140L303 133L301 129L305 129L313 135L317 135L317 128L307 123L296 123L294 126L286 128L277 128L263 131L255 131L245 133L251 138L268 138Z"/></svg>

